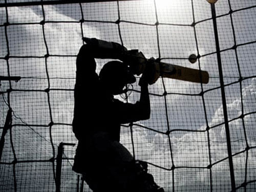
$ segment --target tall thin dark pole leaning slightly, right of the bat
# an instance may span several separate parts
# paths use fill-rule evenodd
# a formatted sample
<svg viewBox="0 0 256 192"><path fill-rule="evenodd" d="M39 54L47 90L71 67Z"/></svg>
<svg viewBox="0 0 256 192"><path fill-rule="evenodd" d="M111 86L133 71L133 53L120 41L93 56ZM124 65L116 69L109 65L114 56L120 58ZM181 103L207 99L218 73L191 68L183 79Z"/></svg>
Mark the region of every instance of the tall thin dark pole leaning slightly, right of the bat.
<svg viewBox="0 0 256 192"><path fill-rule="evenodd" d="M221 96L222 96L224 123L225 123L226 139L227 139L227 152L228 152L229 171L230 171L230 178L231 178L231 189L232 189L232 191L236 191L236 182L235 182L235 179L234 179L233 159L232 159L229 124L228 124L228 115L227 115L227 103L226 103L226 96L225 96L225 89L224 89L224 80L223 80L221 54L220 54L220 45L219 45L218 28L217 28L217 21L216 21L216 10L215 10L215 4L214 3L212 3L210 5L211 5L212 22L213 22L213 25L214 25L217 60L218 60L218 68L219 68L219 76L220 76L220 84L221 84Z"/></svg>

